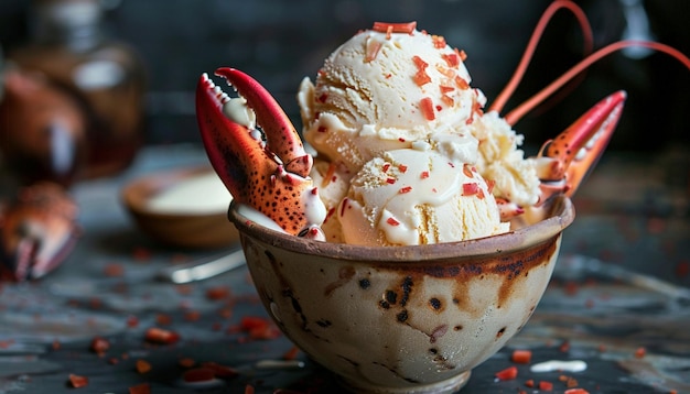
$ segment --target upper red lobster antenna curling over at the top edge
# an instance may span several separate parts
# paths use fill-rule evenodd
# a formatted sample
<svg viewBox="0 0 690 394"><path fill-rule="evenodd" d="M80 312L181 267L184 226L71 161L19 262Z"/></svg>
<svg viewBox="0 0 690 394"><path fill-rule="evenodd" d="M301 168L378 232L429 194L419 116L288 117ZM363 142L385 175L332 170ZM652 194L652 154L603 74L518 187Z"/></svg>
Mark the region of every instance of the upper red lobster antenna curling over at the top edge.
<svg viewBox="0 0 690 394"><path fill-rule="evenodd" d="M522 54L522 58L520 58L520 63L518 63L518 66L510 77L508 84L506 84L506 87L503 88L500 94L498 94L498 96L489 107L489 111L496 111L500 113L503 108L506 106L506 103L510 99L510 96L513 96L513 94L515 92L515 89L517 89L517 87L520 85L520 81L522 80L527 68L529 67L529 62L535 55L537 45L539 44L539 41L543 35L543 31L546 30L549 22L551 22L551 20L553 19L553 14L556 14L556 12L561 9L567 9L575 15L578 22L580 23L580 30L582 31L582 34L584 36L584 55L586 56L592 53L592 26L590 25L590 21L587 20L584 11L582 11L582 9L578 4L570 0L558 0L552 2L539 19L539 22L537 23L537 26L535 28L535 31L529 39L527 48Z"/></svg>

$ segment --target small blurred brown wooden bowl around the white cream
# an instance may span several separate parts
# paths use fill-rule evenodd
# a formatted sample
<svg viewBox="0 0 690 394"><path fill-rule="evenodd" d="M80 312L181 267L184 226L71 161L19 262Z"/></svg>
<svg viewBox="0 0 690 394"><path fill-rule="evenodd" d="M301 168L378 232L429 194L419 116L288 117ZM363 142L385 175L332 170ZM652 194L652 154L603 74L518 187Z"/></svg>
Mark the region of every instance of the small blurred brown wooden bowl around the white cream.
<svg viewBox="0 0 690 394"><path fill-rule="evenodd" d="M148 174L126 185L121 200L137 226L163 244L215 249L236 243L239 234L227 220L227 205L224 209L200 212L160 210L150 204L157 195L185 179L207 174L215 173L211 167L194 167ZM204 198L201 190L198 198ZM228 194L228 204L230 199Z"/></svg>

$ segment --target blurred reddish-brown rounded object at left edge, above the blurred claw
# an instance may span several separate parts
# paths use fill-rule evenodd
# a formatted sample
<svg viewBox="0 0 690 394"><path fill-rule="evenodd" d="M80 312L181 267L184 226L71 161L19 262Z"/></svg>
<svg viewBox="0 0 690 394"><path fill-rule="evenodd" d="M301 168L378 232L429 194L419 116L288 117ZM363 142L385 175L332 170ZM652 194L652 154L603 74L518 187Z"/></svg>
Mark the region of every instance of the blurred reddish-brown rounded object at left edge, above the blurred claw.
<svg viewBox="0 0 690 394"><path fill-rule="evenodd" d="M84 169L84 106L42 74L10 67L0 77L3 189L40 180L68 187Z"/></svg>

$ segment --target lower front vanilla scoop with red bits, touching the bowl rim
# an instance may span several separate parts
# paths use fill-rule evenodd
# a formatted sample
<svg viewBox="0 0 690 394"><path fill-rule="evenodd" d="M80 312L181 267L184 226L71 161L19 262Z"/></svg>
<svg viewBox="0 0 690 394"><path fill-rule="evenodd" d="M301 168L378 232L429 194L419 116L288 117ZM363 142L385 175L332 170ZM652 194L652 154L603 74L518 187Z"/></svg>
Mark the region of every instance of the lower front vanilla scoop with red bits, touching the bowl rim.
<svg viewBox="0 0 690 394"><path fill-rule="evenodd" d="M455 145L474 145L459 136ZM463 143L464 142L464 143ZM464 161L464 150L417 142L367 162L336 212L343 241L362 245L414 245L488 237L500 222L490 186Z"/></svg>

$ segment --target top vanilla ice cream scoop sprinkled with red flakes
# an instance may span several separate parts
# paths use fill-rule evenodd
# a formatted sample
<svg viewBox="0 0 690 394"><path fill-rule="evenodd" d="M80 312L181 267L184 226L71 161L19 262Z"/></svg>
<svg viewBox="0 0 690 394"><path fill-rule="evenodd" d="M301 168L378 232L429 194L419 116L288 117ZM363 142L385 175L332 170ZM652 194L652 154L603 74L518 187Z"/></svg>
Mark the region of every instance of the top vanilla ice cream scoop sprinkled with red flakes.
<svg viewBox="0 0 690 394"><path fill-rule="evenodd" d="M304 138L353 173L381 152L461 131L485 97L470 88L464 54L441 36L363 31L298 94Z"/></svg>

